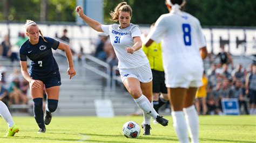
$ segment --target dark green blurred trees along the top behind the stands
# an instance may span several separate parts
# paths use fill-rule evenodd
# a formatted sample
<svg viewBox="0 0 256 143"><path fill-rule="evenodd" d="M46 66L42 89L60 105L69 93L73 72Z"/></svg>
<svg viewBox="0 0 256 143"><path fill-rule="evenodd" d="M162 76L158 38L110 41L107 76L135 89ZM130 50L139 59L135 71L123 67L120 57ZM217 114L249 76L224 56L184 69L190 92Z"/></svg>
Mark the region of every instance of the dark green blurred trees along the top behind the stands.
<svg viewBox="0 0 256 143"><path fill-rule="evenodd" d="M103 0L104 23L112 23L110 11L123 0ZM127 0L132 23L151 24L167 13L165 0ZM0 22L75 22L76 0L0 0ZM255 0L187 0L185 11L207 26L256 26Z"/></svg>

